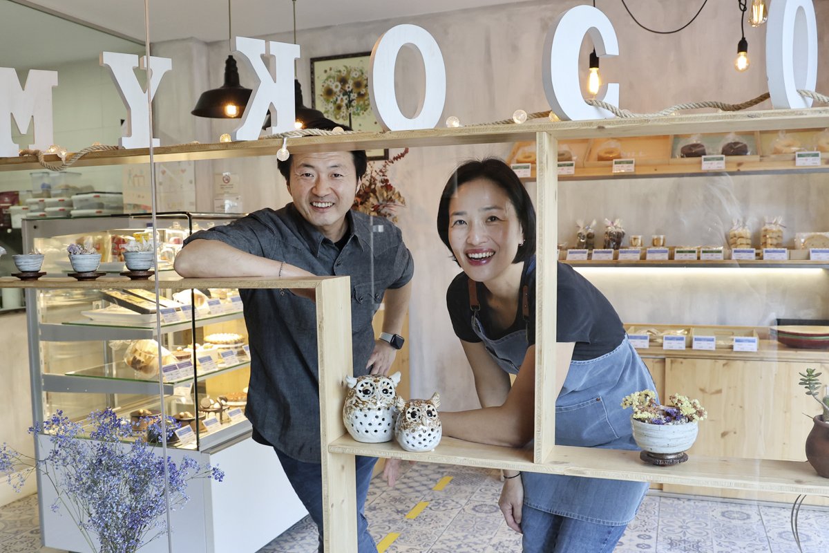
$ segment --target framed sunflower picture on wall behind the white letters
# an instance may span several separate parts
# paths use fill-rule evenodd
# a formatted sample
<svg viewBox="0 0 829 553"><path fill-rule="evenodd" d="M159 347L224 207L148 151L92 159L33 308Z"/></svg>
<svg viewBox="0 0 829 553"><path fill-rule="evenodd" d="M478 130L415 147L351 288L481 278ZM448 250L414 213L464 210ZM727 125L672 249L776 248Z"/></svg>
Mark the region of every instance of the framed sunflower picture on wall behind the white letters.
<svg viewBox="0 0 829 553"><path fill-rule="evenodd" d="M371 52L311 58L311 107L356 131L381 131L369 99ZM371 159L388 159L389 150L367 150Z"/></svg>

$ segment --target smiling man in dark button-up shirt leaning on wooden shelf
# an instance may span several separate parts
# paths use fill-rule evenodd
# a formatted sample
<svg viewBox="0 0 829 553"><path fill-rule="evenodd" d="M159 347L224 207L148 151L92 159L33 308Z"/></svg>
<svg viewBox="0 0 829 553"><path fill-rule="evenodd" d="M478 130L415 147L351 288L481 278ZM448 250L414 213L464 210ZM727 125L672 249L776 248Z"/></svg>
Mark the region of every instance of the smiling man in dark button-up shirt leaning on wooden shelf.
<svg viewBox="0 0 829 553"><path fill-rule="evenodd" d="M184 277L311 275L351 277L354 374L386 374L397 349L414 267L400 230L381 217L351 211L366 172L365 152L300 153L279 162L293 201L255 211L227 226L196 232L175 262ZM304 291L308 296L308 291ZM320 533L322 475L317 322L313 298L277 289L243 289L250 340L245 415L253 437L274 448ZM312 292L313 294L313 292ZM385 294L381 337L371 318ZM376 546L363 515L376 458L356 458L357 541Z"/></svg>

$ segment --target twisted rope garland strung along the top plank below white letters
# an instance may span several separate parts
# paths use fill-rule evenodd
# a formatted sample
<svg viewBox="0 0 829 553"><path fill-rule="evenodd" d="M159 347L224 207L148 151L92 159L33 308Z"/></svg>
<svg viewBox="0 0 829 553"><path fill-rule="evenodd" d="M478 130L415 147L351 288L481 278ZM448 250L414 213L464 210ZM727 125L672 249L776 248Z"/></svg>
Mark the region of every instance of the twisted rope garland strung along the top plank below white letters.
<svg viewBox="0 0 829 553"><path fill-rule="evenodd" d="M797 94L803 96L804 98L811 98L814 101L821 103L821 104L829 104L829 96L822 95L819 92L815 92L814 90L797 90ZM656 118L656 117L666 117L667 115L673 114L676 111L681 109L702 109L702 108L715 108L721 109L722 111L740 111L742 109L747 109L753 107L757 104L762 104L764 101L769 99L771 96L768 92L759 95L757 98L749 99L747 102L742 102L740 104L726 104L725 102L718 102L713 100L703 101L703 102L688 102L685 104L676 104L671 105L671 107L662 109L662 111L657 111L654 114L634 114L632 111L628 109L619 109L617 106L613 104L608 104L604 100L600 99L585 99L584 102L592 105L597 108L607 109L613 115L620 119L629 119L629 118ZM526 119L542 119L550 116L550 110L546 111L536 111L531 114L527 114ZM498 121L492 121L490 123L485 124L476 124L470 126L485 126L485 125L502 125L502 124L516 124L516 122L512 119L500 119ZM358 133L359 131L347 131L344 129L337 129L337 131L331 130L322 130L322 129L294 129L289 130L285 133L277 133L272 134L269 137L262 138L263 140L275 139L275 138L302 138L305 136L332 136L338 134L354 134ZM46 153L41 152L41 150L21 150L21 156L37 156L37 163L41 164L41 167L49 169L50 171L61 172L65 171L68 167L70 167L73 163L78 161L80 158L83 158L87 153L90 152L104 152L109 150L119 150L123 149L119 146L108 146L106 144L93 144L92 146L88 146L79 152L73 153L70 158L63 159L61 163L55 162L47 162L44 159Z"/></svg>

